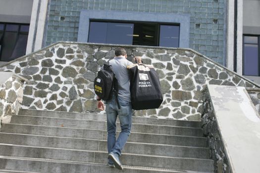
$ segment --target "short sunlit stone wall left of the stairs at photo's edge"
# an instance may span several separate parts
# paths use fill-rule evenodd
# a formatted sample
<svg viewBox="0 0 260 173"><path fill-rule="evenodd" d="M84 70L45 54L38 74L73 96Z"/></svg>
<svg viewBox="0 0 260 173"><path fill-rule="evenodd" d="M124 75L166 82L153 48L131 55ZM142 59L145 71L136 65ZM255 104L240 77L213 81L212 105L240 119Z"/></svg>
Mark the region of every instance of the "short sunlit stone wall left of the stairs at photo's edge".
<svg viewBox="0 0 260 173"><path fill-rule="evenodd" d="M0 84L0 123L8 122L10 115L18 113L23 98L24 81L25 79L13 76Z"/></svg>

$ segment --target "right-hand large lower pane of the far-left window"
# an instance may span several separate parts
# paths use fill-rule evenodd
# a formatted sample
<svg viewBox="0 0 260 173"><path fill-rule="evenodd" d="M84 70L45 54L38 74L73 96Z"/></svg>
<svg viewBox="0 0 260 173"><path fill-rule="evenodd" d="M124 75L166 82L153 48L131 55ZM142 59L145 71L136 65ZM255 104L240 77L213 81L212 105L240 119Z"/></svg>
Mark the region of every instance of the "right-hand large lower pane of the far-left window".
<svg viewBox="0 0 260 173"><path fill-rule="evenodd" d="M28 35L23 35L23 34L19 35L18 41L15 44L10 59L15 59L26 54L27 39L28 39Z"/></svg>

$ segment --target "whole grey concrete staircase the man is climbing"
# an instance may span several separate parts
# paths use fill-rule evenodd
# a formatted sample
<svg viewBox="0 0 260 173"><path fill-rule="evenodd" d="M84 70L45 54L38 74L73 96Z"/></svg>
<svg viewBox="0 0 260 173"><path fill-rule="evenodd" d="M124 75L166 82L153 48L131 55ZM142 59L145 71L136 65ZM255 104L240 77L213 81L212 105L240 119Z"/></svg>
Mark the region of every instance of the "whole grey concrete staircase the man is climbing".
<svg viewBox="0 0 260 173"><path fill-rule="evenodd" d="M105 120L98 114L22 109L0 129L0 172L213 173L200 122L142 117L133 117L121 156L124 170L109 168Z"/></svg>

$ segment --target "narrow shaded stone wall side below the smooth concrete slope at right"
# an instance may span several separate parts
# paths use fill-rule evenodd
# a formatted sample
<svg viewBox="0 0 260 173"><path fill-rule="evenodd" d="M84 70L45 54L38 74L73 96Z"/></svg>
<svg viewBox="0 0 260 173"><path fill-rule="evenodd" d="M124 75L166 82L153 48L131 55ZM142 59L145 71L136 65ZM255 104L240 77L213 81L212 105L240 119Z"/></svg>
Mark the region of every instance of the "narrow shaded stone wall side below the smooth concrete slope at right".
<svg viewBox="0 0 260 173"><path fill-rule="evenodd" d="M203 90L203 95L202 128L204 135L208 138L210 158L214 160L214 173L232 173L207 87Z"/></svg>

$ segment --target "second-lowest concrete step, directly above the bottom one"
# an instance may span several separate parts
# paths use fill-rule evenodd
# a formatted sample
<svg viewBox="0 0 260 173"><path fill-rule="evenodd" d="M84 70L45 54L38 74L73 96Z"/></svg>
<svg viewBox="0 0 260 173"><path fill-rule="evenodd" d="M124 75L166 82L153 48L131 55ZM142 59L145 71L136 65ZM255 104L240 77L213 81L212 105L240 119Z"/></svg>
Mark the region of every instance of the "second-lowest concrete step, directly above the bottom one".
<svg viewBox="0 0 260 173"><path fill-rule="evenodd" d="M0 145L0 155L60 161L65 160L84 163L107 163L107 152L102 151L79 151L2 144ZM213 161L208 159L176 158L124 153L120 157L120 160L123 165L128 166L143 166L190 171L213 171Z"/></svg>

